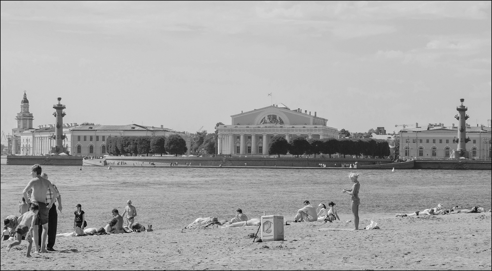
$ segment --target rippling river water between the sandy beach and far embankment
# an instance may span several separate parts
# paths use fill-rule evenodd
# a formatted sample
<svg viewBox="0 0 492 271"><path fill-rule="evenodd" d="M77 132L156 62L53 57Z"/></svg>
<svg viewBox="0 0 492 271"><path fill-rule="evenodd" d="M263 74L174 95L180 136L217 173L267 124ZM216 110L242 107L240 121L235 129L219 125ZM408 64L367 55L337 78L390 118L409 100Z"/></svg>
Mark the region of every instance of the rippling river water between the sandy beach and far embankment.
<svg viewBox="0 0 492 271"><path fill-rule="evenodd" d="M75 205L82 204L89 227L104 226L111 210L120 214L131 199L136 221L156 230L183 228L196 217L281 215L292 220L303 201L313 206L334 201L342 220L351 219L351 171L360 173L361 218L394 217L442 203L491 208L490 170L255 169L196 167L43 166L62 194L58 232L73 228ZM2 218L19 214L31 166L1 165ZM58 203L57 203L58 206Z"/></svg>

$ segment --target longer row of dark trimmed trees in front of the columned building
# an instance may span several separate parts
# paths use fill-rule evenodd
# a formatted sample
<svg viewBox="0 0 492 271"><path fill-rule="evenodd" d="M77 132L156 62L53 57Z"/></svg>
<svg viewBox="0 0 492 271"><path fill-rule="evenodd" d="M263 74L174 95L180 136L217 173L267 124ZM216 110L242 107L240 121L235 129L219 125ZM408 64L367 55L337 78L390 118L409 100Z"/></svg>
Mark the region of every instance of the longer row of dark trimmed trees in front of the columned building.
<svg viewBox="0 0 492 271"><path fill-rule="evenodd" d="M372 138L323 138L323 139L306 139L302 136L294 136L287 142L284 136L276 135L268 144L269 155L316 155L325 154L342 154L355 155L357 158L365 156L366 158L384 158L390 156L390 146L386 140Z"/></svg>

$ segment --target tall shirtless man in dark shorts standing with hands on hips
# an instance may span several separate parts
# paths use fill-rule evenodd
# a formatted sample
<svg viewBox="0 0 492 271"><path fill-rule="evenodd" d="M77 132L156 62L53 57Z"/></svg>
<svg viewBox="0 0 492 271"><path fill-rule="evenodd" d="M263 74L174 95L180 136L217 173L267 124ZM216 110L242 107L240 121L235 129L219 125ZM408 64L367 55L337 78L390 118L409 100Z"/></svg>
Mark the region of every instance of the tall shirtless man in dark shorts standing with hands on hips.
<svg viewBox="0 0 492 271"><path fill-rule="evenodd" d="M33 227L34 242L36 242L36 244L38 243L37 231L39 225L42 225L43 233L41 235L41 245L40 246L37 245L36 247L40 247L41 252L48 252L48 250L46 250L45 248L46 237L48 236L48 215L51 206L53 206L53 203L55 202L55 199L58 196L58 192L55 189L55 187L53 187L50 181L41 177L41 171L42 169L39 164L35 164L32 166L31 175L33 179L26 186L26 188L23 191L23 194L25 199L26 198L29 199L28 191L32 189L31 198L29 199L28 203L36 203L39 206L38 218L36 219L36 224ZM46 204L46 192L48 191L48 189L53 191L54 195L51 198L50 203Z"/></svg>

